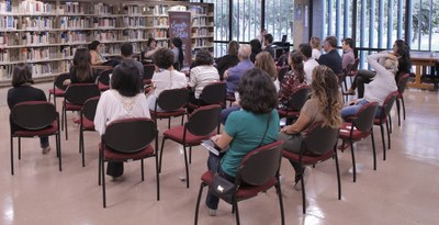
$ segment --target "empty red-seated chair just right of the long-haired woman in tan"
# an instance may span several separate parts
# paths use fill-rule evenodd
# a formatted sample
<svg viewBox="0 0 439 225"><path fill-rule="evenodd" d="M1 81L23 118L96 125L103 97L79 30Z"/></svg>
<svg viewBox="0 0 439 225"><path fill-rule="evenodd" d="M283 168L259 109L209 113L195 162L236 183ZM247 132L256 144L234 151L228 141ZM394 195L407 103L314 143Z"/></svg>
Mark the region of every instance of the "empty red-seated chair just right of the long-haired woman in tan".
<svg viewBox="0 0 439 225"><path fill-rule="evenodd" d="M350 122L345 122L340 127L339 137L341 138L342 144L345 145L345 142L350 143L350 150L352 155L353 182L357 181L357 167L353 142L361 140L369 135L371 136L373 149L373 170L376 170L375 140L373 138L373 120L375 119L376 109L376 102L371 102L363 105L357 112L357 114L353 115Z"/></svg>

